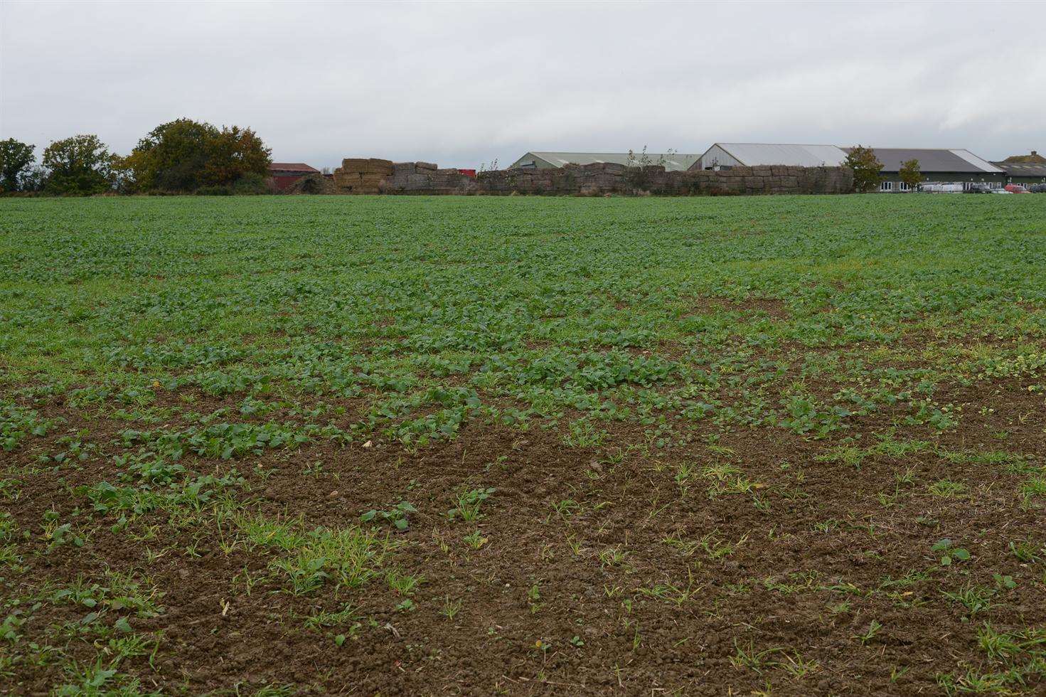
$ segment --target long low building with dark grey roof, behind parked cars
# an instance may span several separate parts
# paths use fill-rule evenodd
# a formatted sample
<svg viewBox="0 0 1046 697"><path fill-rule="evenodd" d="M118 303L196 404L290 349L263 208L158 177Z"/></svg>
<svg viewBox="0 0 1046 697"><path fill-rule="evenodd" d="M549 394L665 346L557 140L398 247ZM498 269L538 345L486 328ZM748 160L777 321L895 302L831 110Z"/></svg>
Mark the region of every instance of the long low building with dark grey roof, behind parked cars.
<svg viewBox="0 0 1046 697"><path fill-rule="evenodd" d="M844 148L847 153L851 148ZM969 150L934 148L872 148L876 158L883 163L881 192L906 192L908 185L901 181L901 165L908 160L918 160L924 180L928 182L985 182L1005 184L1006 173Z"/></svg>

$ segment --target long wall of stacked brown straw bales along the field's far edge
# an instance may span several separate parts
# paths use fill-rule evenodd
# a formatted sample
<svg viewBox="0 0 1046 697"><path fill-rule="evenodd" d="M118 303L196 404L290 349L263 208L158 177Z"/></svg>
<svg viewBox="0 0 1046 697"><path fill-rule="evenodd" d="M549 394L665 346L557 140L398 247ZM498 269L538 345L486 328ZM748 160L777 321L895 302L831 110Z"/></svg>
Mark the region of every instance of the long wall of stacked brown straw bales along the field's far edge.
<svg viewBox="0 0 1046 697"><path fill-rule="evenodd" d="M665 172L661 165L611 162L535 170L496 170L477 177L440 170L429 162L350 158L335 171L342 194L532 194L549 196L745 196L759 194L848 194L846 167L761 166Z"/></svg>

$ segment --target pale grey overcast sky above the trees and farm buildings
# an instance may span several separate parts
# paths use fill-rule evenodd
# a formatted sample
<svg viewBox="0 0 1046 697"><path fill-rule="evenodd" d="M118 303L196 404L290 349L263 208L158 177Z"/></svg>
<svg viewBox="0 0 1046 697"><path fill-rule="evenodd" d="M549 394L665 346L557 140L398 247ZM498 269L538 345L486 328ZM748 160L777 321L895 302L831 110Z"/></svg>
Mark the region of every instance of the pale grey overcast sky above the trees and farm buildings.
<svg viewBox="0 0 1046 697"><path fill-rule="evenodd" d="M0 0L0 138L179 116L276 161L717 140L1046 152L1046 2Z"/></svg>

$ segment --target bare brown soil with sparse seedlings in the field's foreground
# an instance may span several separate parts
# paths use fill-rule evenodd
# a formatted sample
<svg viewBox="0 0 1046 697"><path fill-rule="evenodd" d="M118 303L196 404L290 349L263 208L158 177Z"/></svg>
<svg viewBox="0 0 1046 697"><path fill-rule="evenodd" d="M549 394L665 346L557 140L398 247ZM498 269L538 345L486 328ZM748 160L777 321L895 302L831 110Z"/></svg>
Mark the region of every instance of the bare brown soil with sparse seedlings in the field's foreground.
<svg viewBox="0 0 1046 697"><path fill-rule="evenodd" d="M990 449L1004 431L1000 449L1040 463L1046 455L1044 398L1025 385L974 385L938 402L968 405L961 429L922 434L941 447ZM215 408L215 401L206 406ZM981 414L981 406L994 411ZM58 414L55 408L48 415ZM19 584L41 589L103 579L107 570L149 577L163 593L164 611L132 624L162 632L161 648L153 668L137 657L120 669L140 676L144 689L200 694L273 683L367 695L722 695L770 682L775 695L938 694L937 674L982 665L976 636L984 622L1046 625L1036 578L1042 569L1008 548L1014 540L1046 540L1046 521L1041 509L1022 507L1016 496L1023 475L998 467L917 453L902 462L869 456L856 471L818 458L841 441L775 429L727 433L717 446L732 454L710 452L701 433L689 444L647 449L640 428L615 423L606 426L611 436L599 448L564 447L556 430L472 423L453 442L417 451L377 442L241 460L187 458L201 473L235 467L249 485L241 496L252 511L300 518L306 527L344 527L363 511L409 500L418 512L407 532L393 535L401 546L392 560L425 581L412 597L415 609L397 611L402 598L381 579L338 593L286 592L266 553L241 543L226 554L212 526L191 520L173 524L146 514L135 530L159 525L164 539L133 544L127 533L110 530L112 517L74 516L86 499L70 491L115 480L104 454L127 426L78 410L61 415L65 429L4 455L7 464L28 466L58 449L62 432L81 428L90 429L98 454L25 477L22 495L5 508L20 529L33 532L55 510L89 529L90 543L49 554L42 542L26 543L28 569ZM877 414L860 430L890 425L890 415ZM866 435L858 445L872 443ZM310 473L317 462L321 472ZM683 490L676 476L686 463L697 468ZM712 481L701 470L723 463L753 480L753 492L709 497ZM263 478L258 467L274 471ZM902 485L896 477L904 472L910 481ZM941 479L964 482L967 493L930 495L927 488ZM474 549L462 538L476 527L446 513L456 493L485 487L497 492L478 523L487 542ZM881 495L894 502L884 504ZM562 501L573 504L560 514L553 504ZM939 567L931 547L943 537L969 548L975 563ZM709 549L736 548L715 558L702 540ZM194 544L199 556L179 554ZM146 564L149 545L172 552ZM969 583L993 587L993 571L1003 570L1017 587L972 620L941 595ZM260 579L249 594L248 577ZM453 619L441 613L457 601ZM305 628L305 616L346 604L353 621ZM45 604L32 622L39 629L82 616L82 608ZM858 636L872 621L882 629L862 643ZM355 635L354 622L361 623ZM338 634L348 636L340 647ZM746 667L738 647L770 650L768 662ZM84 642L69 651L87 660L95 650ZM791 675L787 668L801 661L816 664L805 676ZM23 665L0 683L38 694L61 679L54 669Z"/></svg>

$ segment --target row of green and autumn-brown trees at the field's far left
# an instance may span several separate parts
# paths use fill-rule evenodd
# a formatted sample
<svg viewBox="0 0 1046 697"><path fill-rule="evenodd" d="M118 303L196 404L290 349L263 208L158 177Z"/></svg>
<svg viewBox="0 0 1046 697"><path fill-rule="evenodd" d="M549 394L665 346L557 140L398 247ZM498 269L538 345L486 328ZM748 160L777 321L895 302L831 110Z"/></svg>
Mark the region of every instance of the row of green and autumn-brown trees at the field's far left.
<svg viewBox="0 0 1046 697"><path fill-rule="evenodd" d="M75 135L44 149L15 138L0 140L0 192L49 196L95 194L266 194L271 149L254 131L219 129L179 118L162 123L129 155L117 155L98 136Z"/></svg>

